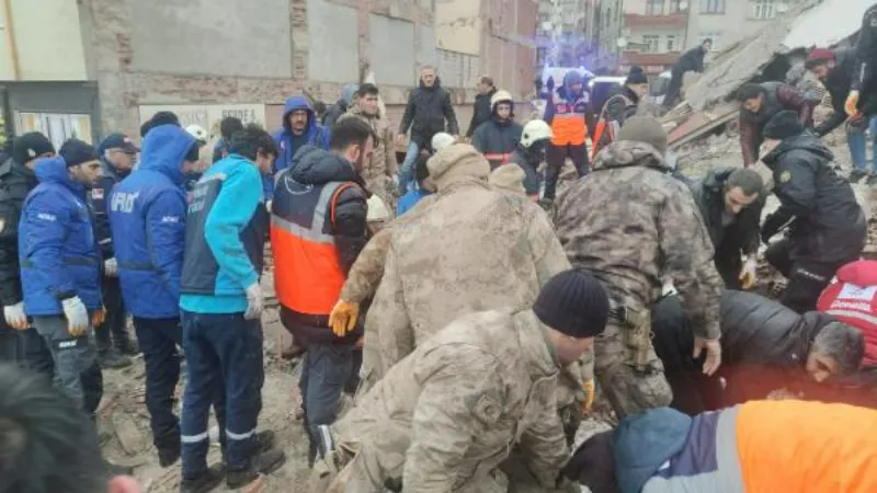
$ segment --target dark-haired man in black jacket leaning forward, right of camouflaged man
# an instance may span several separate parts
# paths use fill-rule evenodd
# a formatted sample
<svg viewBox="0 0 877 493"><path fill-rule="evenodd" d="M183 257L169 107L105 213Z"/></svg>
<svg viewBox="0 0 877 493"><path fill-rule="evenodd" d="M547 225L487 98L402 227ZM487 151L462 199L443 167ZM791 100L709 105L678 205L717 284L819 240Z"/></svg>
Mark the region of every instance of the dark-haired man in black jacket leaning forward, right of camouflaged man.
<svg viewBox="0 0 877 493"><path fill-rule="evenodd" d="M688 186L713 240L716 268L725 287L752 288L765 199L761 175L754 170L739 168L714 170Z"/></svg>

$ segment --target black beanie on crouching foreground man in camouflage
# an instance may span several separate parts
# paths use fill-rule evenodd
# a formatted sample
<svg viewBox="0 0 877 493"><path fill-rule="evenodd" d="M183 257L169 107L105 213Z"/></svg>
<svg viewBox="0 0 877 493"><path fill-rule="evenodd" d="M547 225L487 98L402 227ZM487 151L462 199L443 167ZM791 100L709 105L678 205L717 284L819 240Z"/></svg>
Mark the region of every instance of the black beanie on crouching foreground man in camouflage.
<svg viewBox="0 0 877 493"><path fill-rule="evenodd" d="M610 298L596 277L569 270L551 277L542 288L533 311L542 323L576 339L603 333L610 314Z"/></svg>

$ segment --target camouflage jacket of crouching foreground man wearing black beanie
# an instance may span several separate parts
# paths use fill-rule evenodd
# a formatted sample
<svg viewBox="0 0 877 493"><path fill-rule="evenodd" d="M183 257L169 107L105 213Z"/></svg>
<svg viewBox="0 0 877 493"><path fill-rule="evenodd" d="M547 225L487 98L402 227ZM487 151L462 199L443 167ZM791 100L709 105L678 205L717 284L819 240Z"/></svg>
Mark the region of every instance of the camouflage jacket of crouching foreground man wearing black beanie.
<svg viewBox="0 0 877 493"><path fill-rule="evenodd" d="M531 310L470 313L394 367L333 425L373 491L456 491L515 444L546 489L568 458L556 410L557 356ZM358 491L358 490L357 490ZM366 490L363 490L366 491Z"/></svg>

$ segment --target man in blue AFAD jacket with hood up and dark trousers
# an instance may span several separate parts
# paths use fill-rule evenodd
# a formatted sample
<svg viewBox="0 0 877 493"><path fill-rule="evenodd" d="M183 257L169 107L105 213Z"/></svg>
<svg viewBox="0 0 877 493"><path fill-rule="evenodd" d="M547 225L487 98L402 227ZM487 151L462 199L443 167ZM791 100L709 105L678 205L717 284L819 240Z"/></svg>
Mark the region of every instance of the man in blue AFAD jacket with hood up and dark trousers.
<svg viewBox="0 0 877 493"><path fill-rule="evenodd" d="M140 165L109 198L118 280L146 360L146 409L161 467L180 458L180 421L173 393L183 344L180 274L185 249L185 174L198 145L175 125L152 128Z"/></svg>

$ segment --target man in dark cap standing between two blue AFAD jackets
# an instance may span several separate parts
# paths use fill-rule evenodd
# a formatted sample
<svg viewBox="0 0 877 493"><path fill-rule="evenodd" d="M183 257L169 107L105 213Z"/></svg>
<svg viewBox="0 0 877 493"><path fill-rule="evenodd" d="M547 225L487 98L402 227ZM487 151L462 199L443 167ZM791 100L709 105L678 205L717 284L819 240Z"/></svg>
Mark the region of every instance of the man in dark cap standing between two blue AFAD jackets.
<svg viewBox="0 0 877 493"><path fill-rule="evenodd" d="M125 134L110 134L98 146L102 173L98 185L91 188L90 203L94 210L94 232L103 256L101 293L106 317L94 328L98 339L98 362L102 368L130 366L128 356L139 353L137 344L128 335L128 314L122 299L118 283L118 265L113 249L110 228L110 195L113 187L130 173L140 149Z"/></svg>

